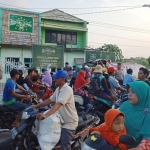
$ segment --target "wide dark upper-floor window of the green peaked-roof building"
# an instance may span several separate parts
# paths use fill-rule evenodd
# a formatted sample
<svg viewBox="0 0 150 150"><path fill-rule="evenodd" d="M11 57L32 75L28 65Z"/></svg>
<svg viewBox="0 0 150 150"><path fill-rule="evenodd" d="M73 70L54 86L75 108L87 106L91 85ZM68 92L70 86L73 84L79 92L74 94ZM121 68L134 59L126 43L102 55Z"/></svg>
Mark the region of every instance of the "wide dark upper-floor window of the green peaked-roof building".
<svg viewBox="0 0 150 150"><path fill-rule="evenodd" d="M45 30L45 43L57 43L58 45L77 44L76 32L61 32Z"/></svg>

